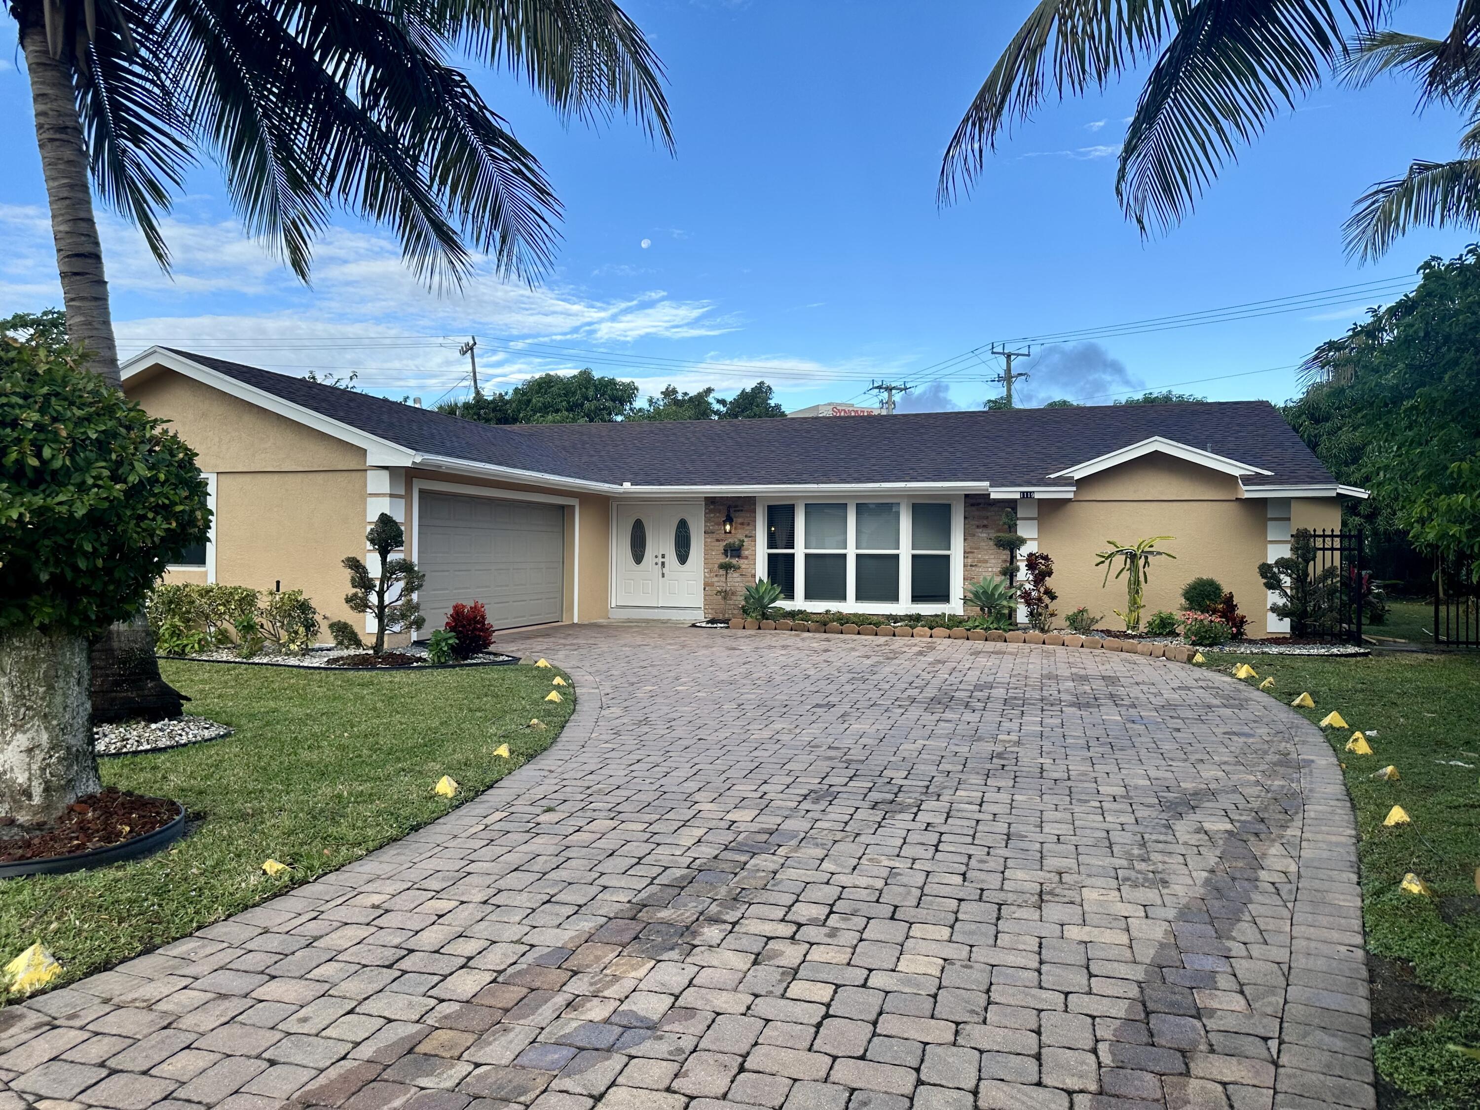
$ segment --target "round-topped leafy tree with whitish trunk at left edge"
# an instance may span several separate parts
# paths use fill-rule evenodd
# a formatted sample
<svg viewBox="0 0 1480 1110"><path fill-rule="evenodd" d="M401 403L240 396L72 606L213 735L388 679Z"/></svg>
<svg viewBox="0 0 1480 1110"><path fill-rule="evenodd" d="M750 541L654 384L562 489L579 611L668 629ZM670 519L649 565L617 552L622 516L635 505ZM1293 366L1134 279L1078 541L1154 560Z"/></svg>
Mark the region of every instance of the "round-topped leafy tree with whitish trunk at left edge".
<svg viewBox="0 0 1480 1110"><path fill-rule="evenodd" d="M0 334L0 815L22 823L98 789L89 641L210 527L194 451L81 360Z"/></svg>

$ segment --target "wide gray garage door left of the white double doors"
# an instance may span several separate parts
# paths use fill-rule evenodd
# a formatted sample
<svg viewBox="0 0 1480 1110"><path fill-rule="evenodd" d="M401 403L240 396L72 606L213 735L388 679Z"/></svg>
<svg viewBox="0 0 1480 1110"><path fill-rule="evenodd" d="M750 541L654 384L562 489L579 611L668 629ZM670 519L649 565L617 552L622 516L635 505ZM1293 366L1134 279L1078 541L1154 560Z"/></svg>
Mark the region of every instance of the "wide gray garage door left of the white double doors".
<svg viewBox="0 0 1480 1110"><path fill-rule="evenodd" d="M559 620L565 608L565 509L539 502L422 493L417 565L426 571L426 636L451 607L481 601L496 629Z"/></svg>

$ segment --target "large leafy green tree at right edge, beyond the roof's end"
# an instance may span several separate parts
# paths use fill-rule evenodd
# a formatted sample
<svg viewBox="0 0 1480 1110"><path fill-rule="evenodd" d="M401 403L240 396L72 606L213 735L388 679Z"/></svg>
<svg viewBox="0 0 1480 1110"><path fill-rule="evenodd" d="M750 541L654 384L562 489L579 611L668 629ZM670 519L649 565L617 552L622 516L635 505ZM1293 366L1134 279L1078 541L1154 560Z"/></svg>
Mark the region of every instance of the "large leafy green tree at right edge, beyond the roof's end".
<svg viewBox="0 0 1480 1110"><path fill-rule="evenodd" d="M1316 349L1285 414L1338 481L1372 490L1360 519L1480 559L1480 249L1419 275Z"/></svg>

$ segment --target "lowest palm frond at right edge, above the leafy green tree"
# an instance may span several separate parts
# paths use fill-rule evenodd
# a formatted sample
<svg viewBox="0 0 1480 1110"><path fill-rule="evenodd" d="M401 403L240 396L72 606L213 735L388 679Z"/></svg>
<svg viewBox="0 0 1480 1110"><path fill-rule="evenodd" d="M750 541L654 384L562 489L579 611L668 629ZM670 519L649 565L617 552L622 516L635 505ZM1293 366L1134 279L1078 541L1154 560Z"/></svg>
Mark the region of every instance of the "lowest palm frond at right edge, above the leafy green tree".
<svg viewBox="0 0 1480 1110"><path fill-rule="evenodd" d="M1471 129L1474 144L1477 132ZM1373 185L1344 226L1347 255L1378 259L1412 226L1480 228L1480 151L1453 161L1415 161L1402 178Z"/></svg>

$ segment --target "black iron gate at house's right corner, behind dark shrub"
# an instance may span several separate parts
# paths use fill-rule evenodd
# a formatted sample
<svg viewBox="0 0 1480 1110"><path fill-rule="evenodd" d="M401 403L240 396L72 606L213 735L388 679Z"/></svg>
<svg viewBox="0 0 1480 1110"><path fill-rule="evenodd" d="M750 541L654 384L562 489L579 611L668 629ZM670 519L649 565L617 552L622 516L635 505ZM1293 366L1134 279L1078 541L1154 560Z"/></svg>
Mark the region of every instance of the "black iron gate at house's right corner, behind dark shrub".
<svg viewBox="0 0 1480 1110"><path fill-rule="evenodd" d="M1276 564L1280 605L1296 639L1362 642L1363 608L1372 574L1362 562L1362 530L1301 528L1291 554Z"/></svg>

